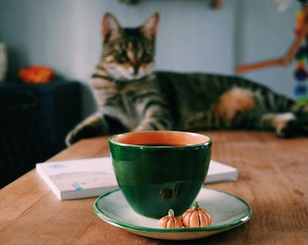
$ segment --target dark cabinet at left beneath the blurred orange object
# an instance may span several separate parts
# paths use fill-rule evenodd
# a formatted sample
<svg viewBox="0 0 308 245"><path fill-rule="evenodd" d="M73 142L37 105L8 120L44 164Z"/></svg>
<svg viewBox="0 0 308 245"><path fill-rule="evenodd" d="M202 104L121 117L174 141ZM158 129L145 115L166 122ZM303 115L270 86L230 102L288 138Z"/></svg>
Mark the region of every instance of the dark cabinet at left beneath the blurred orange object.
<svg viewBox="0 0 308 245"><path fill-rule="evenodd" d="M65 147L81 120L81 84L0 84L0 188Z"/></svg>

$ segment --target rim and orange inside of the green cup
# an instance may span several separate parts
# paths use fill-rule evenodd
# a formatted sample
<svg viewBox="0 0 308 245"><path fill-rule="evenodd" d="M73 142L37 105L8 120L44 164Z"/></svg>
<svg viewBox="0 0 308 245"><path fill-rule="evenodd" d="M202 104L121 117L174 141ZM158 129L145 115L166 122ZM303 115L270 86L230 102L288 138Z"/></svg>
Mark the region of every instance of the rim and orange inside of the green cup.
<svg viewBox="0 0 308 245"><path fill-rule="evenodd" d="M139 137L136 138L136 135ZM212 143L206 134L185 131L123 132L111 135L109 141L117 145L143 148L187 148Z"/></svg>

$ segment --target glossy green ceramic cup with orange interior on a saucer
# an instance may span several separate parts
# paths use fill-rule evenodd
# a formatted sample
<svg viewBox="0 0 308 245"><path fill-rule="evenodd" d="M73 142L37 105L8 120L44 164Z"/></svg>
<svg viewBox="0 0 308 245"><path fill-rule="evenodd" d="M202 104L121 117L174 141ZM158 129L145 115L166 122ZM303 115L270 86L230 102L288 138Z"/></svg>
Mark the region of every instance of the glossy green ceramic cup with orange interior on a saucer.
<svg viewBox="0 0 308 245"><path fill-rule="evenodd" d="M195 132L128 132L111 136L113 170L137 213L159 219L178 216L197 197L211 157L211 139Z"/></svg>

